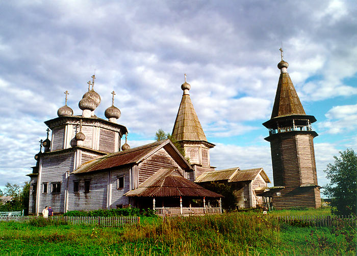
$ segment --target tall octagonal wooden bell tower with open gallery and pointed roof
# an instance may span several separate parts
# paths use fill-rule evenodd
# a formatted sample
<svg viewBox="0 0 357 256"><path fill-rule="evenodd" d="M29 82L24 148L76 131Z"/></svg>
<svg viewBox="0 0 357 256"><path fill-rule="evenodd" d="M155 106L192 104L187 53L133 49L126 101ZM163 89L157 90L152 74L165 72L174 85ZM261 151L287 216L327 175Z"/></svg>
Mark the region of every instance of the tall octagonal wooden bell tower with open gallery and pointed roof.
<svg viewBox="0 0 357 256"><path fill-rule="evenodd" d="M263 125L269 129L273 167L275 209L315 207L321 205L320 187L317 184L313 131L314 116L306 115L283 60L273 111Z"/></svg>

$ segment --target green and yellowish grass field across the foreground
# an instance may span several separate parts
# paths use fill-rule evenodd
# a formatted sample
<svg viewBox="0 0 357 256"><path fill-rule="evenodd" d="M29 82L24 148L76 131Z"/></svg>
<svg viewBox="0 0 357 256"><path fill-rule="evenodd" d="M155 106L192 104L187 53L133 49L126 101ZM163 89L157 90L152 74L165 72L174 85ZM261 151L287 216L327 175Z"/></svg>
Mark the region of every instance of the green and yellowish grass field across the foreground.
<svg viewBox="0 0 357 256"><path fill-rule="evenodd" d="M286 213L270 215L278 212ZM257 212L142 218L124 228L0 222L0 255L355 255L355 231L288 225Z"/></svg>

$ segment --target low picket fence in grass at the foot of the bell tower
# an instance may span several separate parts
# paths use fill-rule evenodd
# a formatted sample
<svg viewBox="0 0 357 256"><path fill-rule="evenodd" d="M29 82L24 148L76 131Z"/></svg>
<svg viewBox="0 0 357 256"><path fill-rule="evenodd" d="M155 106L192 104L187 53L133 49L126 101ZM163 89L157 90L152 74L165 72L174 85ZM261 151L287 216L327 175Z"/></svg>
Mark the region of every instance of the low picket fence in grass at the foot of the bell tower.
<svg viewBox="0 0 357 256"><path fill-rule="evenodd" d="M356 225L356 216L342 215L327 215L327 216L277 216L280 221L295 225L311 225L311 226L338 226L342 224Z"/></svg>

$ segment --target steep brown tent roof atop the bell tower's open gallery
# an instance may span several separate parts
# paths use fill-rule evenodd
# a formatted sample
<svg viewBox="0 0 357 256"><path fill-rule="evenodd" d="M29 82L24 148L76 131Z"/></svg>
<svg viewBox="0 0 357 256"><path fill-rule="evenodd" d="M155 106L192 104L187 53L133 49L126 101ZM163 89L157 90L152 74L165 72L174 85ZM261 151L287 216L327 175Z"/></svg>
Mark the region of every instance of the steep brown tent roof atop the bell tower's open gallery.
<svg viewBox="0 0 357 256"><path fill-rule="evenodd" d="M281 73L277 84L271 119L290 115L306 115L289 73Z"/></svg>

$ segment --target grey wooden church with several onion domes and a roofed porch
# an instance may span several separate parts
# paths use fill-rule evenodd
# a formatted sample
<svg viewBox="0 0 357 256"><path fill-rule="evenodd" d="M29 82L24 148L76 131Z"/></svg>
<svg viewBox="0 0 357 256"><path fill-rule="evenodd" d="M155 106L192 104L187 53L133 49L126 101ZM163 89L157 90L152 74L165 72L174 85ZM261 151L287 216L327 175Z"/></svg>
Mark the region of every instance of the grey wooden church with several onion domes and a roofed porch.
<svg viewBox="0 0 357 256"><path fill-rule="evenodd" d="M66 91L58 117L45 122L47 138L40 141L28 175L29 213L38 215L45 206L55 213L129 206L154 208L161 215L220 213L221 195L193 182L196 170L170 140L130 148L126 127L117 123L121 113L114 92L105 111L108 120L94 115L101 98L92 78L79 102L81 116L73 116Z"/></svg>

